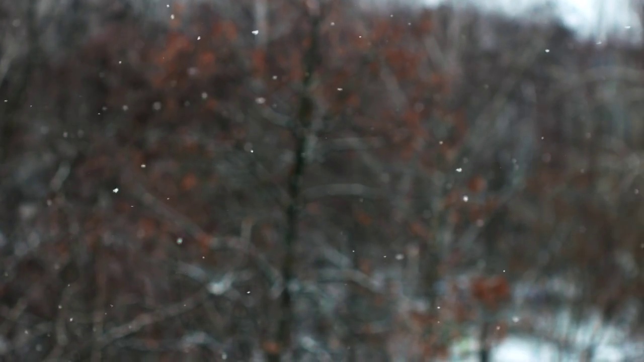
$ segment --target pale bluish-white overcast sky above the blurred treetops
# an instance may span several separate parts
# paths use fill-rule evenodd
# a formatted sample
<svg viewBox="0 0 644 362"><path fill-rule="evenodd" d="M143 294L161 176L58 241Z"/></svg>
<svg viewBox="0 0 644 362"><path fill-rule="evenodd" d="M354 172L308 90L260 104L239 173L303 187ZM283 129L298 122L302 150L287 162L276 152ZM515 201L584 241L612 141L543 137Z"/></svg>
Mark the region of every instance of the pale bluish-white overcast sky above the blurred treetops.
<svg viewBox="0 0 644 362"><path fill-rule="evenodd" d="M579 35L598 41L607 33L625 39L641 39L641 24L630 3L634 0L409 0L438 5L444 2L474 4L478 8L520 17L535 8L551 4L554 12ZM637 0L636 0L637 1Z"/></svg>

